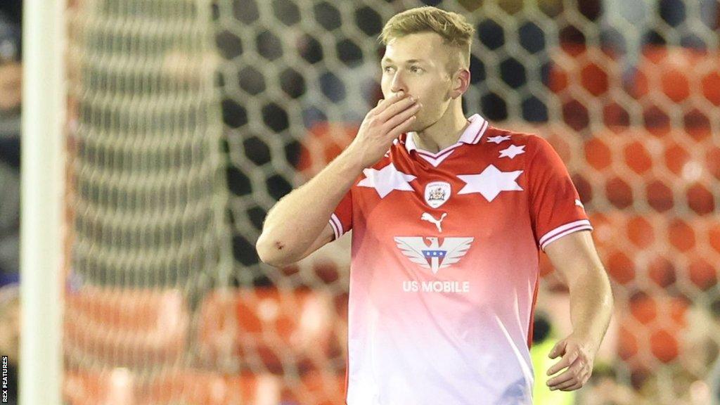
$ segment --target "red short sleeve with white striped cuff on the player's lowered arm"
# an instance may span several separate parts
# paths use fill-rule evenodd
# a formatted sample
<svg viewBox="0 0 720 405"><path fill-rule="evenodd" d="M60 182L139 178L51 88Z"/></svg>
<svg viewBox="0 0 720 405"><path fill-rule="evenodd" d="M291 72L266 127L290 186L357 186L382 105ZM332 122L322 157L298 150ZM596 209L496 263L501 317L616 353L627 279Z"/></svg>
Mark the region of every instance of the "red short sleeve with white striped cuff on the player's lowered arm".
<svg viewBox="0 0 720 405"><path fill-rule="evenodd" d="M553 241L592 231L593 226L560 156L543 138L534 138L536 153L528 167L530 210L535 240L544 251Z"/></svg>

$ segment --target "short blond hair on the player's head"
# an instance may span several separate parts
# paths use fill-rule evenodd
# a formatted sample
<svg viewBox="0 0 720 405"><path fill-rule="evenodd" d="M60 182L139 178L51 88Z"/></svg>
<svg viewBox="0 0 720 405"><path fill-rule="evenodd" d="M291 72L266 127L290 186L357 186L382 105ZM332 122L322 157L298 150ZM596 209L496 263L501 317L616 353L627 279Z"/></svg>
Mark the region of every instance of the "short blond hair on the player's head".
<svg viewBox="0 0 720 405"><path fill-rule="evenodd" d="M451 71L457 68L458 62L462 63L464 68L469 68L470 46L475 29L467 23L465 17L454 12L423 6L395 14L382 28L379 40L383 45L387 45L391 40L418 32L435 32L443 37L446 45L459 50L461 61L451 61Z"/></svg>

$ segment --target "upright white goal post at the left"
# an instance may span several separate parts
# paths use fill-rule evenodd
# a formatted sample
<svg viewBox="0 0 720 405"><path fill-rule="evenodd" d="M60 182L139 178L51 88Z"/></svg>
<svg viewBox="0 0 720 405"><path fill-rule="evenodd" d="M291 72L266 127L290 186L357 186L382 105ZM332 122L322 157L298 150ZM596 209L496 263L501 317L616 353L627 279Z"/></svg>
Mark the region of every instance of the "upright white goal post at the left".
<svg viewBox="0 0 720 405"><path fill-rule="evenodd" d="M60 405L65 63L63 0L25 0L22 88L22 405Z"/></svg>

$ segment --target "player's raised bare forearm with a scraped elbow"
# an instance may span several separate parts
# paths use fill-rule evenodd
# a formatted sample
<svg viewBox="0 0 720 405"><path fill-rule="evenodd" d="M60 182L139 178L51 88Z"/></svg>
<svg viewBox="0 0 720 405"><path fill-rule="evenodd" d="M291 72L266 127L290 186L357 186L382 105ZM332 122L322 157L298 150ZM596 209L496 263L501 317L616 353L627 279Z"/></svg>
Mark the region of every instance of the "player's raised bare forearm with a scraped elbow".
<svg viewBox="0 0 720 405"><path fill-rule="evenodd" d="M269 211L256 248L263 262L295 262L318 238L362 165L348 148Z"/></svg>

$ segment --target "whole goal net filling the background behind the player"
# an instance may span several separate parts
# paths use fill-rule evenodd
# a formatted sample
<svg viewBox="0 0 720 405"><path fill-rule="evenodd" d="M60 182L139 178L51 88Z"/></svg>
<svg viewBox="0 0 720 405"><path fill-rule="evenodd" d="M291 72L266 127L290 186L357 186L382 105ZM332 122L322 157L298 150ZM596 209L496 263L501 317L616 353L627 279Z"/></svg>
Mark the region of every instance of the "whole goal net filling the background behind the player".
<svg viewBox="0 0 720 405"><path fill-rule="evenodd" d="M578 404L698 403L720 343L720 5L636 3L424 3L477 29L465 111L547 138L595 226L616 314ZM421 5L71 6L68 402L343 403L348 236L283 269L254 242L351 141L377 35ZM563 295L541 264L539 306Z"/></svg>

